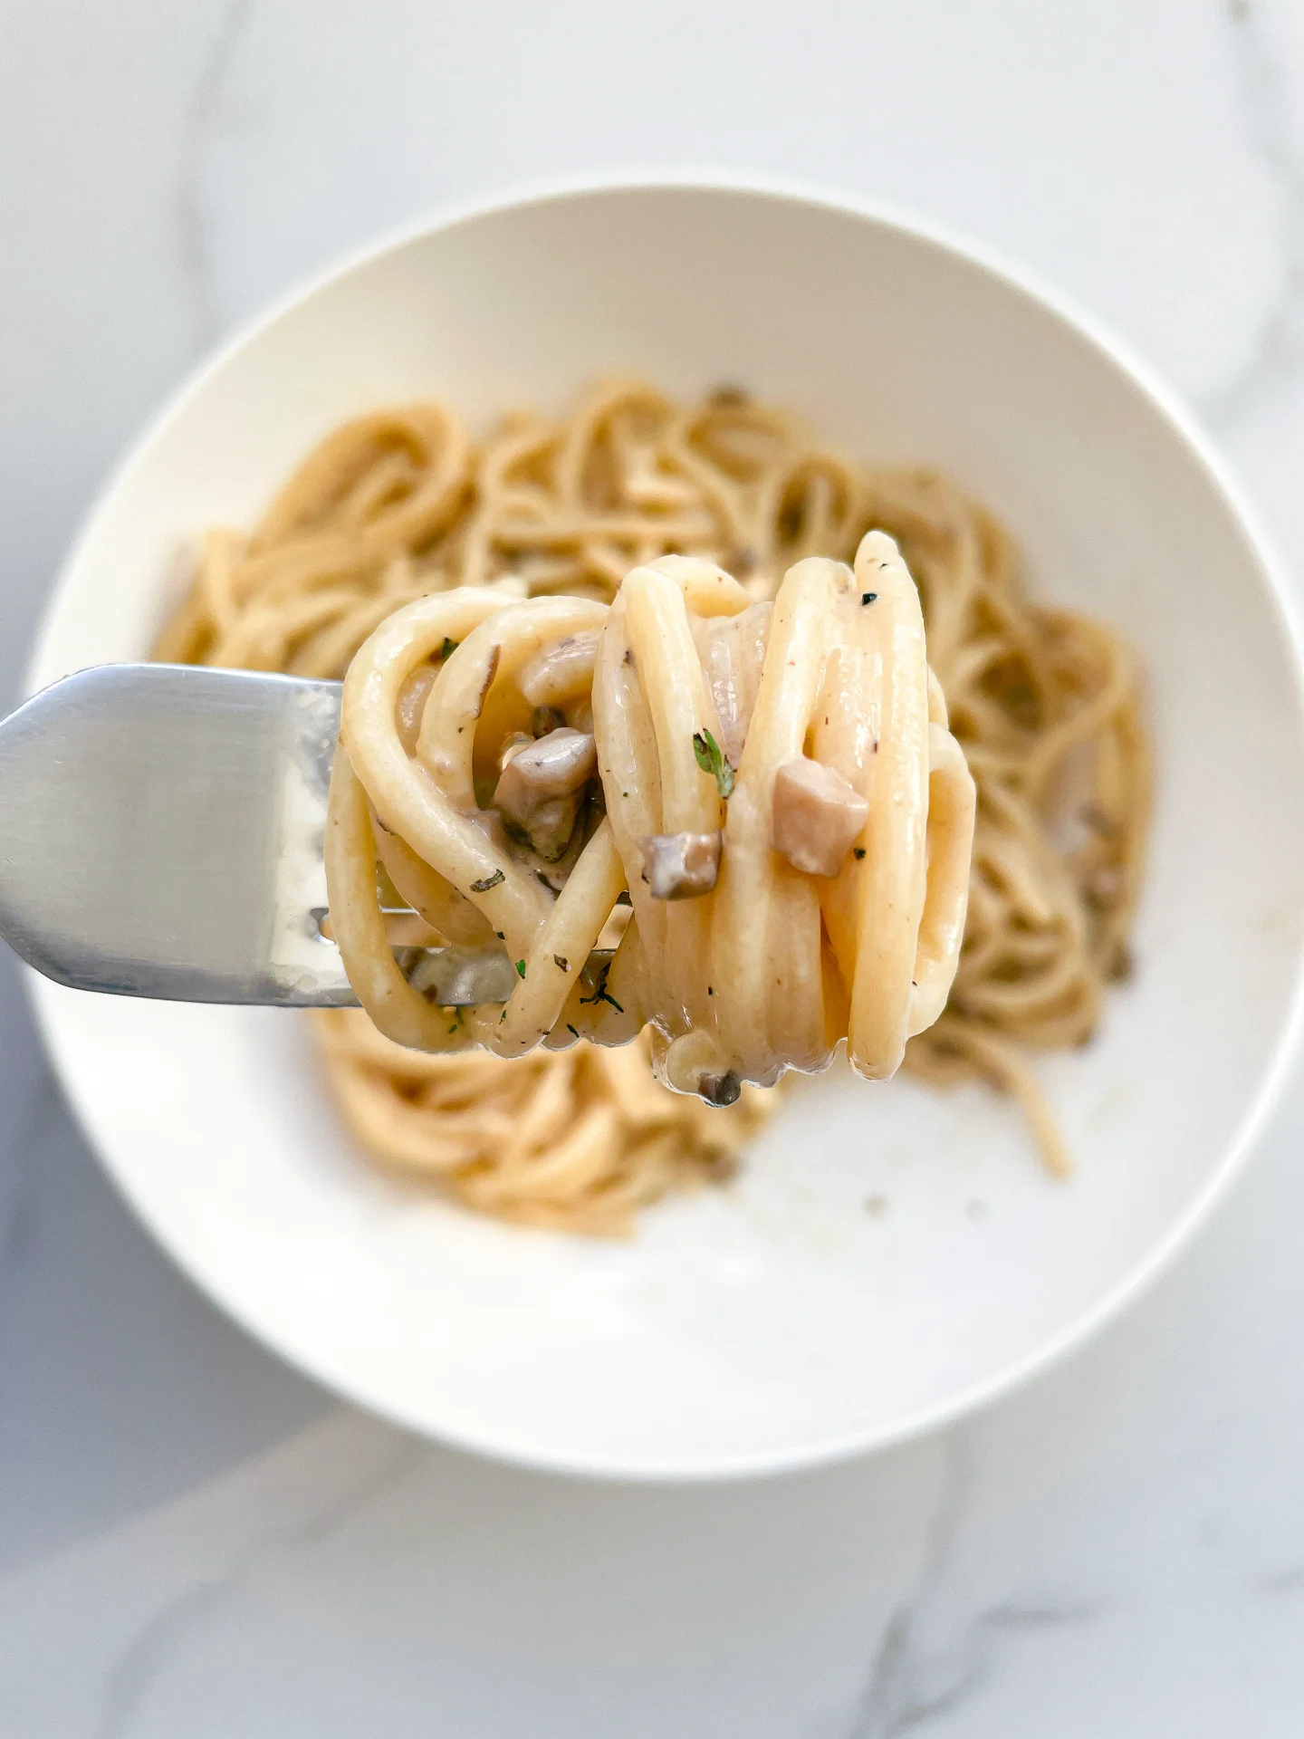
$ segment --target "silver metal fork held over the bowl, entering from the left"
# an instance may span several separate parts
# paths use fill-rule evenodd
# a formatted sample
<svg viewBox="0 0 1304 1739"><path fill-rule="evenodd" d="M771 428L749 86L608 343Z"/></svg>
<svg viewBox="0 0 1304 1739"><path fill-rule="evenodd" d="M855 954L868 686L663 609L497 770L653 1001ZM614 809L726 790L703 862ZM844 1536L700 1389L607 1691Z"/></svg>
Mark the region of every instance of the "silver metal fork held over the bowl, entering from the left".
<svg viewBox="0 0 1304 1739"><path fill-rule="evenodd" d="M0 936L77 989L355 1007L322 934L337 730L339 683L301 676L103 664L43 689L0 722ZM516 983L502 949L395 958L445 1007Z"/></svg>

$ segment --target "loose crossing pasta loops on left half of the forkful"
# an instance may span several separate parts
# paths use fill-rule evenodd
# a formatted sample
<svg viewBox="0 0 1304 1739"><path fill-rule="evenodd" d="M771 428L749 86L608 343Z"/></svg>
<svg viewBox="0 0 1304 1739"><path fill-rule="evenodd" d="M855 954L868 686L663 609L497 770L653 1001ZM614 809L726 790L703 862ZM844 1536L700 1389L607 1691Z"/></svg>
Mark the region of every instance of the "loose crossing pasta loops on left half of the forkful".
<svg viewBox="0 0 1304 1739"><path fill-rule="evenodd" d="M476 758L483 767L489 755L492 769L530 718L522 692L530 668L551 647L595 633L605 614L582 598L511 603L466 586L398 610L349 664L327 812L330 923L358 1000L396 1043L436 1052L482 1045L518 1057L555 1029L562 1042L622 1043L643 1026L636 970L626 969L636 939L629 948L622 939L602 993L586 995L581 974L624 890L607 819L591 805L591 830L575 819L579 850L563 866L532 845L513 850L501 814L482 812L476 800ZM398 711L421 689L409 750ZM450 1019L409 984L376 889L377 854L436 934L457 927L450 941L506 944L520 977L506 1007L461 1009Z"/></svg>

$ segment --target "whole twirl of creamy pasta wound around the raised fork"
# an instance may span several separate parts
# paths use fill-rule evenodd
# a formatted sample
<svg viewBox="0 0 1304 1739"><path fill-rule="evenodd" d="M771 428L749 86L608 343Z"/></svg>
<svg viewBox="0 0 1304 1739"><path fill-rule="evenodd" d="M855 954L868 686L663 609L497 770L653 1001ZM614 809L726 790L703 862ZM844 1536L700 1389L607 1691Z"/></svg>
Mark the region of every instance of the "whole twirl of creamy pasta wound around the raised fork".
<svg viewBox="0 0 1304 1739"><path fill-rule="evenodd" d="M509 1057L650 1024L662 1080L729 1104L843 1038L861 1075L897 1069L955 977L972 836L890 537L854 570L798 562L772 605L662 556L610 609L464 588L381 624L344 683L330 922L400 1043ZM506 946L506 1005L454 1014L407 983L377 863L431 941Z"/></svg>

